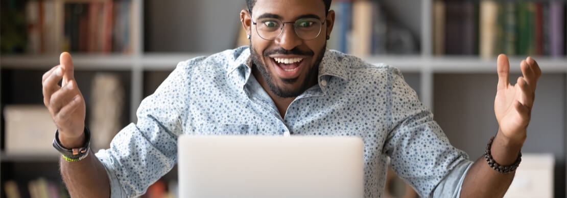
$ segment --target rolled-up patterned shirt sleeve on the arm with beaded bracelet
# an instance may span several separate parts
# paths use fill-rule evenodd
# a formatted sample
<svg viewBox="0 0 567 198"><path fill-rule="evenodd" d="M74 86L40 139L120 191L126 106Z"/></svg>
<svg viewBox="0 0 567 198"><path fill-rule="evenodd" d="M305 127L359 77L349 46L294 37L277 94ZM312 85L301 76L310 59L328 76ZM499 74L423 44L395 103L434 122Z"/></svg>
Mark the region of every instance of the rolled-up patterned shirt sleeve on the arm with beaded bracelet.
<svg viewBox="0 0 567 198"><path fill-rule="evenodd" d="M396 174L421 197L454 197L472 164L468 155L453 147L431 111L393 69L391 76L390 131L384 151Z"/></svg>

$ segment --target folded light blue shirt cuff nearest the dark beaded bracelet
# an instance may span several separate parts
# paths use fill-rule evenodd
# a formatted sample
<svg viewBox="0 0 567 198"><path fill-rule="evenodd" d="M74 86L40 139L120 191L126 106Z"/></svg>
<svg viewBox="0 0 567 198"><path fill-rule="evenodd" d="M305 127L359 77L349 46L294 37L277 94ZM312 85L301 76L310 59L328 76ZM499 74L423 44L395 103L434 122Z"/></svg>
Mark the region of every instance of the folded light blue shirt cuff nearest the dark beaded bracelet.
<svg viewBox="0 0 567 198"><path fill-rule="evenodd" d="M456 165L445 179L439 182L433 192L433 197L460 197L464 178L467 176L468 169L471 168L472 164L472 161L463 160Z"/></svg>

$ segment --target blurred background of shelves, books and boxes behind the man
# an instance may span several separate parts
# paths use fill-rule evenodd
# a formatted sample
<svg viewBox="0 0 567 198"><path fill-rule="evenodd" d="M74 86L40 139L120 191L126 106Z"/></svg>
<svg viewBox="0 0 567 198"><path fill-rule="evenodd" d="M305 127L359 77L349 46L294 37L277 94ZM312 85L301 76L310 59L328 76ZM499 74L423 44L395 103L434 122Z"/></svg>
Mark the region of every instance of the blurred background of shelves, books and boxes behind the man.
<svg viewBox="0 0 567 198"><path fill-rule="evenodd" d="M328 48L400 68L471 160L496 134L496 55L510 79L528 55L538 83L521 171L506 197L565 197L566 2L333 0ZM136 122L140 101L180 61L248 45L244 0L0 0L0 197L66 197L41 76L70 51L92 147ZM388 174L389 197L415 197ZM176 167L144 197L175 197ZM408 190L408 191L407 191Z"/></svg>

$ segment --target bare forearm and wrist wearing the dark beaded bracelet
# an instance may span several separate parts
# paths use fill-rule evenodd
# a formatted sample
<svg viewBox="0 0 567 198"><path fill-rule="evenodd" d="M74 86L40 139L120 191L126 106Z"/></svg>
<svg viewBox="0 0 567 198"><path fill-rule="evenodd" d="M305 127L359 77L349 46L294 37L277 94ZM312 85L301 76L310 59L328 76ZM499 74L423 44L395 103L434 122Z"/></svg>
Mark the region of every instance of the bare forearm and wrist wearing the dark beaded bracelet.
<svg viewBox="0 0 567 198"><path fill-rule="evenodd" d="M518 158L522 145L510 143L498 131L492 143L494 161L511 165ZM476 160L463 181L461 197L503 197L514 179L515 172L500 173L488 165L484 157Z"/></svg>

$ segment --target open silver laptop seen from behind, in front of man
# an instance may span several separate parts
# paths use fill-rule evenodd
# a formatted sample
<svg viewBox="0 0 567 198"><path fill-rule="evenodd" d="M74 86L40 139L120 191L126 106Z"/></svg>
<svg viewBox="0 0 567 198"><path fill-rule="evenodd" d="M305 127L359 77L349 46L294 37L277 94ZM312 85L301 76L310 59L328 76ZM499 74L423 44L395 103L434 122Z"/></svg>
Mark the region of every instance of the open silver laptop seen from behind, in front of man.
<svg viewBox="0 0 567 198"><path fill-rule="evenodd" d="M363 197L359 137L191 136L179 197Z"/></svg>

